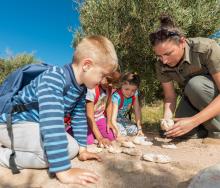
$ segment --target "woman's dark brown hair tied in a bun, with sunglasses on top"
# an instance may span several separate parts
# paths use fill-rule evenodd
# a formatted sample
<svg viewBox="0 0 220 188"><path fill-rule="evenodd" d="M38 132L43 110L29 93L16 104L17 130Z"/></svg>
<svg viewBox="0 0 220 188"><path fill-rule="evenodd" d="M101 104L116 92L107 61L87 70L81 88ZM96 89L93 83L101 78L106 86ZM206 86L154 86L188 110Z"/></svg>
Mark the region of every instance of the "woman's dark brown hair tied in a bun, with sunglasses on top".
<svg viewBox="0 0 220 188"><path fill-rule="evenodd" d="M175 26L169 15L162 14L159 19L159 29L149 35L151 45L156 46L157 44L167 40L174 41L178 44L180 38L184 36L182 31Z"/></svg>

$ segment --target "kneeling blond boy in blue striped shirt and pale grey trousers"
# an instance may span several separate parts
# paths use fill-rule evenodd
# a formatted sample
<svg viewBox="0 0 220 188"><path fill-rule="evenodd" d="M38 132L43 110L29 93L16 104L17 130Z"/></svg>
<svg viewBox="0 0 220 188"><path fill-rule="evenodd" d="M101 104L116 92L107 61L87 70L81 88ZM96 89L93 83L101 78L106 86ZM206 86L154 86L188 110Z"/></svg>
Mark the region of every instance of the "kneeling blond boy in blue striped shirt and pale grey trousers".
<svg viewBox="0 0 220 188"><path fill-rule="evenodd" d="M70 159L101 160L86 151L87 120L85 90L96 85L118 66L113 44L103 36L84 38L76 47L73 63L68 66L72 85L64 92L63 68L52 67L40 74L13 97L13 104L38 102L31 109L12 116L16 164L22 168L47 168L63 183L95 183L98 176L89 170L71 168ZM71 113L74 138L64 128L64 116ZM7 114L0 116L0 165L9 167L10 138Z"/></svg>

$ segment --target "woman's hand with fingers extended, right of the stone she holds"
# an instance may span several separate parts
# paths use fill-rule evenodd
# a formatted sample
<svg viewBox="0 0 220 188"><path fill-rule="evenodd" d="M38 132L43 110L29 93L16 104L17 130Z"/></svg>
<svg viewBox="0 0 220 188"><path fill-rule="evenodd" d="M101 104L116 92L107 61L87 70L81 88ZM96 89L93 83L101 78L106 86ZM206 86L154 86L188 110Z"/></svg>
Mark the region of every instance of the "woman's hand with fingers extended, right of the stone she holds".
<svg viewBox="0 0 220 188"><path fill-rule="evenodd" d="M182 136L198 126L192 117L174 118L173 120L175 121L174 126L165 132L167 137Z"/></svg>

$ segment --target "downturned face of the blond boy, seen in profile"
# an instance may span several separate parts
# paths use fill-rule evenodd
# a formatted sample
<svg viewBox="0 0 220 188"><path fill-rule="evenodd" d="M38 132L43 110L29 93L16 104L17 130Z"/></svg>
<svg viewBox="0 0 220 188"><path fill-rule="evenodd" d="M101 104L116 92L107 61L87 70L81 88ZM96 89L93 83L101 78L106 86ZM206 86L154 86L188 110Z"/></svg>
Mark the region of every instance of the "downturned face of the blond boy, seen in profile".
<svg viewBox="0 0 220 188"><path fill-rule="evenodd" d="M83 82L87 88L93 89L104 80L105 76L111 73L111 67L102 67L100 65L91 65L84 73Z"/></svg>

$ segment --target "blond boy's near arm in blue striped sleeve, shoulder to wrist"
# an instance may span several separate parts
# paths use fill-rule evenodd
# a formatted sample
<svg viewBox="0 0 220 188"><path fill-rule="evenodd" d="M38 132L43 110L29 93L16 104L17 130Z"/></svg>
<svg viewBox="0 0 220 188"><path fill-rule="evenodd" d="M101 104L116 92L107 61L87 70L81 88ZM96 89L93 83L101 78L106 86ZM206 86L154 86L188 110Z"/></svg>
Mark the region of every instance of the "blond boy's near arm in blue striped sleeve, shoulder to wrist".
<svg viewBox="0 0 220 188"><path fill-rule="evenodd" d="M62 73L51 71L42 76L36 88L43 146L49 163L49 172L55 173L71 168L64 130L64 85Z"/></svg>

